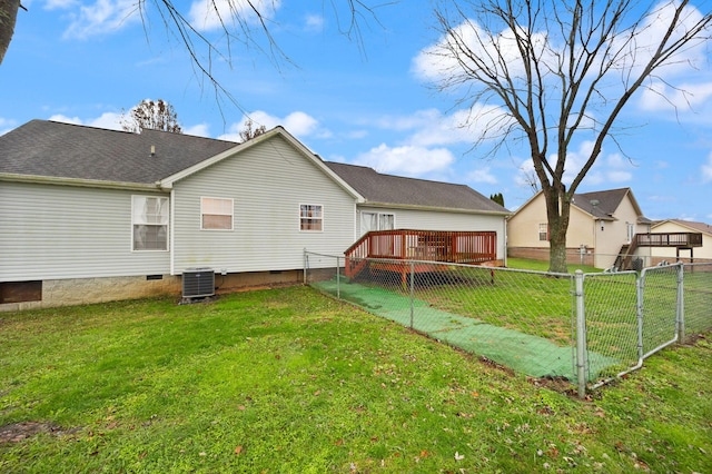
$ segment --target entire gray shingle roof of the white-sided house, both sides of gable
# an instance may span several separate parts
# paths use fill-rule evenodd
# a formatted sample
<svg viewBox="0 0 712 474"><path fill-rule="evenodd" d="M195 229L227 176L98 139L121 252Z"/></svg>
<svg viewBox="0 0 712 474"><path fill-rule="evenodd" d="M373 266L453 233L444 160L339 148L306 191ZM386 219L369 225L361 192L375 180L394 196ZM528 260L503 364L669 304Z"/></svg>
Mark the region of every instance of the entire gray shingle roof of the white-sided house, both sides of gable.
<svg viewBox="0 0 712 474"><path fill-rule="evenodd" d="M166 131L131 134L32 120L0 136L0 174L155 184L236 146ZM363 166L325 165L370 204L510 214L464 185L382 175Z"/></svg>

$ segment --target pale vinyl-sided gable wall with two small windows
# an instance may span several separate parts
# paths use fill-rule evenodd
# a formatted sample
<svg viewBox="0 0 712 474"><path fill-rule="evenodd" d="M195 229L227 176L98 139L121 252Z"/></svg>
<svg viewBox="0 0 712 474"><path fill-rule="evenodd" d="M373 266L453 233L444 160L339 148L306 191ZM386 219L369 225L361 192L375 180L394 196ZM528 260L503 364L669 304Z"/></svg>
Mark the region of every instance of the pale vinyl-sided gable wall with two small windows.
<svg viewBox="0 0 712 474"><path fill-rule="evenodd" d="M234 231L199 230L206 189L235 200ZM323 231L299 230L301 204L323 206ZM354 197L279 136L177 181L171 205L176 274L300 269L305 248L343 255L354 243Z"/></svg>

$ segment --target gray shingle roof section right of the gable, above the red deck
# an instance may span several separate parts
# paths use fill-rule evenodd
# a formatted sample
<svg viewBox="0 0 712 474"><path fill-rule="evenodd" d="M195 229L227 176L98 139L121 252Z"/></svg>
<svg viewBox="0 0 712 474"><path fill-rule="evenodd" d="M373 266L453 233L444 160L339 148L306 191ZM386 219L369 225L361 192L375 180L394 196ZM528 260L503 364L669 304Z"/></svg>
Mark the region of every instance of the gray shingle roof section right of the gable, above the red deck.
<svg viewBox="0 0 712 474"><path fill-rule="evenodd" d="M511 214L465 185L383 175L373 168L343 162L326 161L326 166L356 189L366 204Z"/></svg>

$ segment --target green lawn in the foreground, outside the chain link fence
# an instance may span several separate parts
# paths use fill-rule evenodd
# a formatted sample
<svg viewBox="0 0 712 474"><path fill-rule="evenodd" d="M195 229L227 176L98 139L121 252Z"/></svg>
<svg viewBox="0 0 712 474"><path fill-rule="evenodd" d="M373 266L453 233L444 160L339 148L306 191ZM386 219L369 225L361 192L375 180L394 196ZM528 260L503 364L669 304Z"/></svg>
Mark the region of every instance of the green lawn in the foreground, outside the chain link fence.
<svg viewBox="0 0 712 474"><path fill-rule="evenodd" d="M6 313L0 472L712 472L711 379L581 402L307 287Z"/></svg>

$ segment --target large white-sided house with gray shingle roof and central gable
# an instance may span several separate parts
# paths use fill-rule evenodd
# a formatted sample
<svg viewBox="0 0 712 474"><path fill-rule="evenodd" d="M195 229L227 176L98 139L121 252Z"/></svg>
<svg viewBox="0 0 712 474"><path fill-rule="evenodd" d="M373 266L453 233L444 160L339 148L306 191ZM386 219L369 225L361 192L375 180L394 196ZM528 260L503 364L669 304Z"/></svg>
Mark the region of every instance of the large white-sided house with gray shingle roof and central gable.
<svg viewBox="0 0 712 474"><path fill-rule="evenodd" d="M235 144L30 121L0 137L0 310L180 294L195 268L221 289L299 282L305 249L343 255L372 211L490 226L504 254L506 209L374 200L349 169L281 127ZM428 181L408 182L413 198Z"/></svg>

